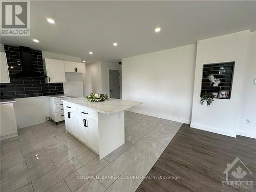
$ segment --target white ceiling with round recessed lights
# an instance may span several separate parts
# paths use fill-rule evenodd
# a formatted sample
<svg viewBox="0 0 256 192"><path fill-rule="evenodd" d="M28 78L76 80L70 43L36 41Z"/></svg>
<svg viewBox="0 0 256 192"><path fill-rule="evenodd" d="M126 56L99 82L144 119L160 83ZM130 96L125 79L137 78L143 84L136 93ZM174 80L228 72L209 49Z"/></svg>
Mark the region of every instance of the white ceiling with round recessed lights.
<svg viewBox="0 0 256 192"><path fill-rule="evenodd" d="M155 33L158 26L161 32ZM31 36L2 36L1 42L82 57L87 63L118 62L246 29L256 29L255 1L31 1Z"/></svg>

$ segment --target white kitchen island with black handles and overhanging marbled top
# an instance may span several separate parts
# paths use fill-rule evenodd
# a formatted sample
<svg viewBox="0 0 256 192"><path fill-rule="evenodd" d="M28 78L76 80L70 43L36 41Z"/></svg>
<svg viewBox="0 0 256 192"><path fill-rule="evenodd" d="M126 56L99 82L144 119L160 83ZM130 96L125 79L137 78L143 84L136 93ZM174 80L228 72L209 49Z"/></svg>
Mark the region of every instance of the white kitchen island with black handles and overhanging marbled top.
<svg viewBox="0 0 256 192"><path fill-rule="evenodd" d="M88 102L84 98L63 101L66 132L104 158L124 144L124 110L142 102L112 99Z"/></svg>

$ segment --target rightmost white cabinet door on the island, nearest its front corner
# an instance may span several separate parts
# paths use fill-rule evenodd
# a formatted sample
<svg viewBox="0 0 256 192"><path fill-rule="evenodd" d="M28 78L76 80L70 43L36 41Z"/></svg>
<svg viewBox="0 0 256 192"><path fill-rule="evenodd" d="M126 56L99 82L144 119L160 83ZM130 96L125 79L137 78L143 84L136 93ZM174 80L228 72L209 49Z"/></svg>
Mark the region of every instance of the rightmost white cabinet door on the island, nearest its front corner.
<svg viewBox="0 0 256 192"><path fill-rule="evenodd" d="M98 151L98 143L99 143L99 133L98 133L98 123L87 119L88 123L88 141L89 145L95 150Z"/></svg>

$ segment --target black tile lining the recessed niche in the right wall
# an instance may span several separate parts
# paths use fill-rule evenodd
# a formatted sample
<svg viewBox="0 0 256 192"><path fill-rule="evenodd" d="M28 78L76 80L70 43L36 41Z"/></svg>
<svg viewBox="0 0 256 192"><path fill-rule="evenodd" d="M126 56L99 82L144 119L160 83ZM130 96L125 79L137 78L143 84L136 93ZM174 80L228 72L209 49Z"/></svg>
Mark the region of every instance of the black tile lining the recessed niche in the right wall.
<svg viewBox="0 0 256 192"><path fill-rule="evenodd" d="M205 92L218 92L221 90L229 91L229 96L231 97L232 79L234 71L234 62L222 62L222 63L211 63L203 65L203 77L201 86L201 96ZM214 87L211 81L207 78L209 75L214 75L218 78L221 83L218 87Z"/></svg>

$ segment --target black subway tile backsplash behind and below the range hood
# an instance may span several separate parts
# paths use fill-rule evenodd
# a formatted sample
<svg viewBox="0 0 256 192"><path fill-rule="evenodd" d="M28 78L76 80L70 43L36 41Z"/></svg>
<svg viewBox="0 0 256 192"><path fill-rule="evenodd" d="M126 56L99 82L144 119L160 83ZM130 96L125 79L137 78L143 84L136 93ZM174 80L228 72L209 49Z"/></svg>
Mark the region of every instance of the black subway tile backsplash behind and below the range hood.
<svg viewBox="0 0 256 192"><path fill-rule="evenodd" d="M46 95L63 94L62 83L46 83L44 77L13 78L13 74L22 71L19 48L4 45L11 83L0 83L1 99L37 97ZM42 52L31 49L31 59L34 71L44 72Z"/></svg>

